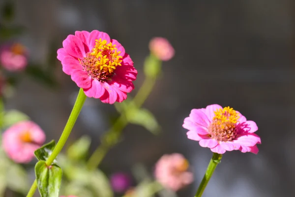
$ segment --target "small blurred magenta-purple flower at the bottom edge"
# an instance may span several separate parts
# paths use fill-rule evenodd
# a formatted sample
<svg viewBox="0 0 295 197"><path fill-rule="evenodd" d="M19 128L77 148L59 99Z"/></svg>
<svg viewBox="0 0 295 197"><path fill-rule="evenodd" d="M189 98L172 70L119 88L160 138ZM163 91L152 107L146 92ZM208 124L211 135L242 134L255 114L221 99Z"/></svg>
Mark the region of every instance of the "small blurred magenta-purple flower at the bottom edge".
<svg viewBox="0 0 295 197"><path fill-rule="evenodd" d="M131 185L131 177L127 173L117 172L110 178L111 186L117 193L125 192Z"/></svg>

